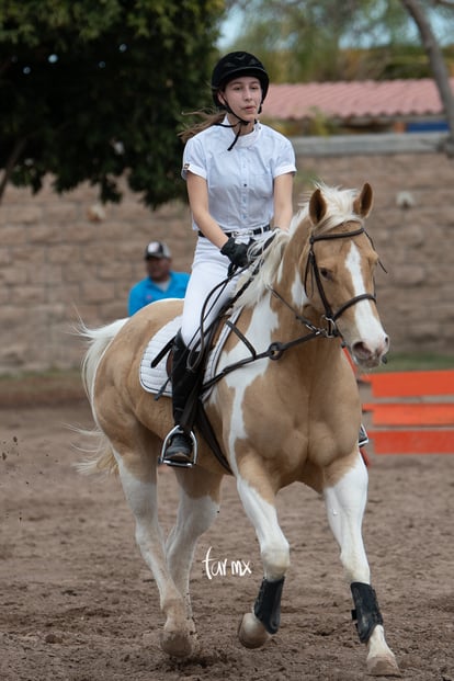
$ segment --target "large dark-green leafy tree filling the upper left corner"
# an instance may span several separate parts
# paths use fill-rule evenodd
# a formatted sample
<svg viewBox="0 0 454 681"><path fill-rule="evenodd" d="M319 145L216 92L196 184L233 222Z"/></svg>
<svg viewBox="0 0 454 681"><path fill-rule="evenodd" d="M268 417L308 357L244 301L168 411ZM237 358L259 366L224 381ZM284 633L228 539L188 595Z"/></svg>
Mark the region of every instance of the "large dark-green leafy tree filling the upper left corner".
<svg viewBox="0 0 454 681"><path fill-rule="evenodd" d="M0 201L83 181L147 205L182 192L182 112L209 103L222 0L0 0Z"/></svg>

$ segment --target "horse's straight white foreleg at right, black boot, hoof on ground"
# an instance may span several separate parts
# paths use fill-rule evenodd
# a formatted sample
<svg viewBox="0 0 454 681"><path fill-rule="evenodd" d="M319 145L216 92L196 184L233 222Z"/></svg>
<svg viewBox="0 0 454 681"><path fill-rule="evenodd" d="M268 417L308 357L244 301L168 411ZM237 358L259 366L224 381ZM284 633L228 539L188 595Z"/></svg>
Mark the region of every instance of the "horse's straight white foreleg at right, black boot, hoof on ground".
<svg viewBox="0 0 454 681"><path fill-rule="evenodd" d="M336 470L328 472L329 476ZM367 500L367 472L360 454L354 465L332 486L325 488L329 524L341 548L341 561L349 580L360 640L367 644L367 671L374 676L400 676L396 658L385 640L383 618L362 537Z"/></svg>

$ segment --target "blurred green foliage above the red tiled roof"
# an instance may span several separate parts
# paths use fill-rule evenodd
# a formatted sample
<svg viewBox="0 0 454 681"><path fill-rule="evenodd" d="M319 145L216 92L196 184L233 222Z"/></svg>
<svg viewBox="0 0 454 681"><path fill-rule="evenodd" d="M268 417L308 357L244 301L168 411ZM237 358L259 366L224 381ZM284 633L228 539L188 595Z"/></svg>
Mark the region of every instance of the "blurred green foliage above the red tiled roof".
<svg viewBox="0 0 454 681"><path fill-rule="evenodd" d="M454 11L421 0L441 38ZM396 0L227 0L241 12L231 48L262 56L273 82L431 77L415 23ZM449 49L445 49L445 56ZM454 61L451 60L454 65Z"/></svg>

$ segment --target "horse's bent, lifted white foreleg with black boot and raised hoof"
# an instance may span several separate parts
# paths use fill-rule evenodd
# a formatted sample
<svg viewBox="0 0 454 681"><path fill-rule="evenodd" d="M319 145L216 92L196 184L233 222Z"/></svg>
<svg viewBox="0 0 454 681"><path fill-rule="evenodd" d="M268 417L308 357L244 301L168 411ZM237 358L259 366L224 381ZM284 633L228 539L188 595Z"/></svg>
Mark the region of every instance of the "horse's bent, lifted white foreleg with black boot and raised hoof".
<svg viewBox="0 0 454 681"><path fill-rule="evenodd" d="M237 487L246 513L256 527L264 571L253 611L243 615L238 636L247 648L259 648L280 626L281 595L290 565L290 547L277 522L271 489L259 492L242 478L238 478Z"/></svg>

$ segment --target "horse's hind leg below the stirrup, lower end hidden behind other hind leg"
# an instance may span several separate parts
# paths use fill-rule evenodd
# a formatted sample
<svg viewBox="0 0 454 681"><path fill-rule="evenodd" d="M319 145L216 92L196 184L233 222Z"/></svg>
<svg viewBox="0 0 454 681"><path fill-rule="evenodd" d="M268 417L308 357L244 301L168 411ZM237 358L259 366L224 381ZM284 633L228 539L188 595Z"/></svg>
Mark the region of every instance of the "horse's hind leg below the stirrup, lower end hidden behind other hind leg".
<svg viewBox="0 0 454 681"><path fill-rule="evenodd" d="M219 487L223 476L202 468L174 469L180 485L177 522L166 544L167 564L180 593L186 600L192 617L190 571L198 537L206 532L219 511Z"/></svg>

